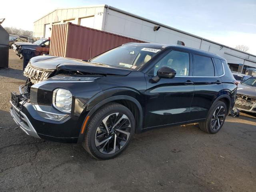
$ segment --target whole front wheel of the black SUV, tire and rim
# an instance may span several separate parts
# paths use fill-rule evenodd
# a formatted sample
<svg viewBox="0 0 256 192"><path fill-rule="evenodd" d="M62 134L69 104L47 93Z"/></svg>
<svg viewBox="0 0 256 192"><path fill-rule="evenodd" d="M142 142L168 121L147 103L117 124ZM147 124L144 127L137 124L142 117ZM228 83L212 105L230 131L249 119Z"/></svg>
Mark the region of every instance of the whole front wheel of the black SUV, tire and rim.
<svg viewBox="0 0 256 192"><path fill-rule="evenodd" d="M94 158L110 159L120 154L134 134L132 112L118 103L110 103L95 112L82 142Z"/></svg>

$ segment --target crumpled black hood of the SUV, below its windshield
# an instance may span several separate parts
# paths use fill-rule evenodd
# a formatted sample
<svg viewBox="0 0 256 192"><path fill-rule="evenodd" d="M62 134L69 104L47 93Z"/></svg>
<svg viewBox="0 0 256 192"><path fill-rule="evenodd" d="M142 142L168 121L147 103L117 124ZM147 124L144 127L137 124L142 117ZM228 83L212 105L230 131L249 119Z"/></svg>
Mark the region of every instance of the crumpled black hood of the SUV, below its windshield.
<svg viewBox="0 0 256 192"><path fill-rule="evenodd" d="M132 70L92 64L79 59L42 55L30 59L30 65L42 70L68 70L94 74L128 75Z"/></svg>

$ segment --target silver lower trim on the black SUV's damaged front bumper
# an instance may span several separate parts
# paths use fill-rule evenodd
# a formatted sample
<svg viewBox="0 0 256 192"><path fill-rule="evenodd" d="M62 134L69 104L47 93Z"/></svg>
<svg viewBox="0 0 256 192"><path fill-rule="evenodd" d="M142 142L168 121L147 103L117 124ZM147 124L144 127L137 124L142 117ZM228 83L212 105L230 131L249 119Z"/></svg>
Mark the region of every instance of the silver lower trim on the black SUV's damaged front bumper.
<svg viewBox="0 0 256 192"><path fill-rule="evenodd" d="M28 117L22 111L20 111L16 106L14 106L14 104L11 101L10 103L12 105L12 107L10 108L10 114L14 119L14 121L16 122L16 124L20 126L20 128L26 134L40 139L36 130L28 120Z"/></svg>

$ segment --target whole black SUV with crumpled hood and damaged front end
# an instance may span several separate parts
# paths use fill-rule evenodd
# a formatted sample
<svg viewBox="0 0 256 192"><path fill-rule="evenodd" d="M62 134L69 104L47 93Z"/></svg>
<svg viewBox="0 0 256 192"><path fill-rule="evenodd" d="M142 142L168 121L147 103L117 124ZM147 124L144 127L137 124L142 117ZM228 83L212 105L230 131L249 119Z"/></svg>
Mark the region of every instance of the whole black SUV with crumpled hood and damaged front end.
<svg viewBox="0 0 256 192"><path fill-rule="evenodd" d="M91 60L37 56L24 75L10 101L20 128L36 138L82 142L100 159L152 128L199 122L218 132L237 89L224 58L149 43L124 44Z"/></svg>

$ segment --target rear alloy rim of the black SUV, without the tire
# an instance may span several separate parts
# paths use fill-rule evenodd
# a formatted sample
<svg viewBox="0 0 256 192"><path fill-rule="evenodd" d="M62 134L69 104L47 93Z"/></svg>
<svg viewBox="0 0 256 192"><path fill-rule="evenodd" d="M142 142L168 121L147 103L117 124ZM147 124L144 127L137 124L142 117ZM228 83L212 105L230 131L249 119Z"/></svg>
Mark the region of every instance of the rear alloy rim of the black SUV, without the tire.
<svg viewBox="0 0 256 192"><path fill-rule="evenodd" d="M219 106L216 108L216 110L212 114L212 121L211 121L212 130L214 131L218 130L224 123L224 119L225 119L225 108L223 106Z"/></svg>

